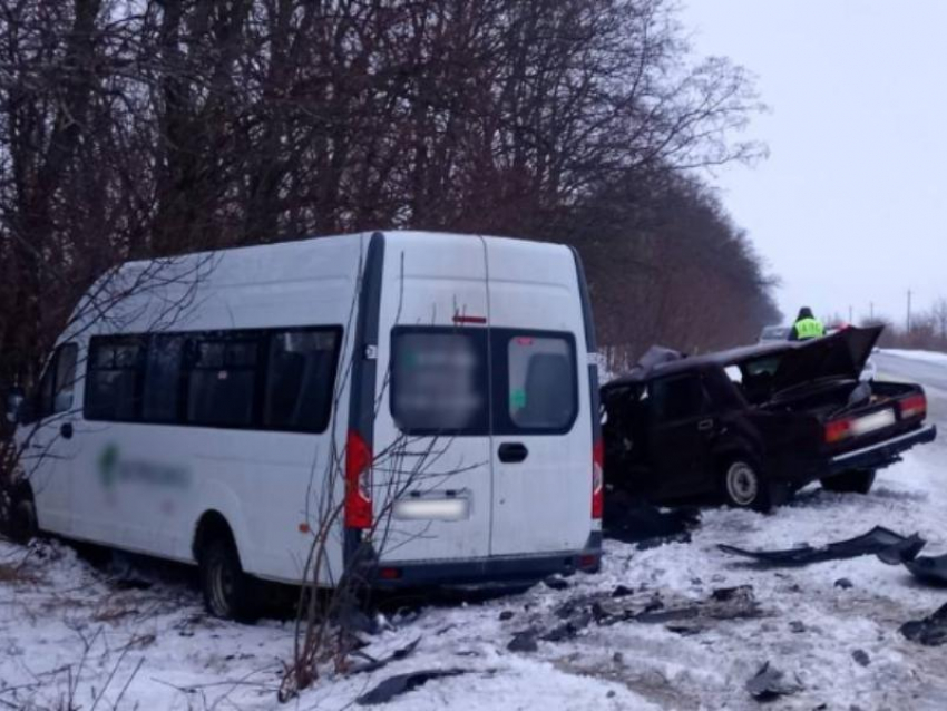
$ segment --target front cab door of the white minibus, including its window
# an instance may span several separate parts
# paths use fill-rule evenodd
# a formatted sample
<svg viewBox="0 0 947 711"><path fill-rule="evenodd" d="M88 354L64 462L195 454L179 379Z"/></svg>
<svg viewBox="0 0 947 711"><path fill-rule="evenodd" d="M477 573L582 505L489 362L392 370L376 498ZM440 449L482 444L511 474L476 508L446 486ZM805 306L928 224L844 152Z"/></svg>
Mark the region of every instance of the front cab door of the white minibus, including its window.
<svg viewBox="0 0 947 711"><path fill-rule="evenodd" d="M30 481L43 530L72 530L72 461L76 457L76 343L59 345L40 379L20 429L20 464Z"/></svg>

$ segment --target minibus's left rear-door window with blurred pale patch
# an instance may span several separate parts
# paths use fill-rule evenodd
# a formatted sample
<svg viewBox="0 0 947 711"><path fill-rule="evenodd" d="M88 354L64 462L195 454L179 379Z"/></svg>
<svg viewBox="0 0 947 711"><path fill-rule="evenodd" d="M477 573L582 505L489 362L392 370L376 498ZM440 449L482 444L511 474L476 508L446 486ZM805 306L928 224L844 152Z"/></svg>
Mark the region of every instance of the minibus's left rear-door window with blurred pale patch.
<svg viewBox="0 0 947 711"><path fill-rule="evenodd" d="M392 337L391 411L409 435L488 432L487 333L397 329Z"/></svg>

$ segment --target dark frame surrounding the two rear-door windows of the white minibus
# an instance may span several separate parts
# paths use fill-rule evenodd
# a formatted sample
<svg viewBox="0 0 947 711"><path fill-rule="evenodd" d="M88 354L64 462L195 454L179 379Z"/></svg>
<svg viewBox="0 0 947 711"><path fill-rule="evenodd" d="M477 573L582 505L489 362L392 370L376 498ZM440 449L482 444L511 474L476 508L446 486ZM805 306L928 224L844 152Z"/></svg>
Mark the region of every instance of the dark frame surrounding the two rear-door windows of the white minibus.
<svg viewBox="0 0 947 711"><path fill-rule="evenodd" d="M435 429L421 427L402 427L396 412L396 401L399 392L397 377L397 341L400 335L471 335L482 343L486 367L487 390L490 402L486 411L486 429L482 427L466 429ZM560 339L566 342L570 363L572 412L568 421L559 427L523 427L514 422L509 413L509 344L515 338ZM579 398L578 347L575 334L570 331L549 329L517 329L508 327L457 327L457 325L399 325L391 329L390 334L390 380L388 410L400 432L409 437L543 437L566 435L578 421L582 403Z"/></svg>

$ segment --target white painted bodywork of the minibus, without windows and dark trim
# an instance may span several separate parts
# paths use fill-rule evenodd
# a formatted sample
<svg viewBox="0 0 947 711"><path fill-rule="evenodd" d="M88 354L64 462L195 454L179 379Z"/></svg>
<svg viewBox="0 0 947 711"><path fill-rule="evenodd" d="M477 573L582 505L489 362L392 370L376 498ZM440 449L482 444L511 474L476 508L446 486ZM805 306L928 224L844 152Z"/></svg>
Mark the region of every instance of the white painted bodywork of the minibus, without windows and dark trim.
<svg viewBox="0 0 947 711"><path fill-rule="evenodd" d="M383 241L384 254L377 294L378 342L355 352L362 274L372 238ZM117 274L90 289L77 308L74 328L59 340L77 344L79 376L72 411L41 421L35 435L41 446L58 448L59 456L33 457L32 471L33 450L28 449L25 459L41 528L193 563L199 522L215 512L233 532L246 572L300 582L313 532L325 512L340 513L343 503L340 466L354 413L350 413L354 358L371 361L375 369L377 417L371 432L375 517L385 519L387 507L412 491L423 500L460 497L468 506L461 519L392 518L390 525L362 535L380 563L463 565L587 548L595 529L593 413L578 275L567 247L394 232L129 263ZM104 310L107 318L100 315ZM341 328L333 406L324 432L84 417L87 359L90 339L97 335L297 327ZM406 437L392 415L392 334L402 328L430 327L568 335L575 344L578 402L568 431ZM62 421L74 426L72 438L59 437ZM20 428L21 438L27 429ZM498 447L512 441L528 448L528 458L519 464L499 461ZM402 490L406 473L419 466L422 476L409 474L411 486ZM330 473L338 480L329 481ZM350 534L341 515L332 522L321 584L338 581Z"/></svg>

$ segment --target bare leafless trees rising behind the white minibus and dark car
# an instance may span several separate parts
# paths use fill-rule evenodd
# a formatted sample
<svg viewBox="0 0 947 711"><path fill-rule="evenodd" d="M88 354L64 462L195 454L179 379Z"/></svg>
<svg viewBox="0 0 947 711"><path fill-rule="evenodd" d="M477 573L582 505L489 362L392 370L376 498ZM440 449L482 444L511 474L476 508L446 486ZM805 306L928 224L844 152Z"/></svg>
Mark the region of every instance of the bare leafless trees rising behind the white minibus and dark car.
<svg viewBox="0 0 947 711"><path fill-rule="evenodd" d="M126 259L378 227L575 244L633 357L777 320L701 167L751 159L744 72L670 0L0 6L0 380Z"/></svg>

